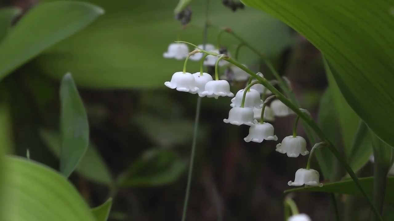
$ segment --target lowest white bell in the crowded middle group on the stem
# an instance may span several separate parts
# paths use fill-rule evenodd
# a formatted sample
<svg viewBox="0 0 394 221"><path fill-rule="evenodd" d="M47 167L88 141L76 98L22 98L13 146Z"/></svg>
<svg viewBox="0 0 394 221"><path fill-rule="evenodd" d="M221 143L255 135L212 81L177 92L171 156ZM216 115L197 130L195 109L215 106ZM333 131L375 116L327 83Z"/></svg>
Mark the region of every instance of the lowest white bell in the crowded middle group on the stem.
<svg viewBox="0 0 394 221"><path fill-rule="evenodd" d="M249 134L243 138L246 142L261 143L263 140L278 140L278 137L273 134L273 126L271 123L255 123L250 126Z"/></svg>

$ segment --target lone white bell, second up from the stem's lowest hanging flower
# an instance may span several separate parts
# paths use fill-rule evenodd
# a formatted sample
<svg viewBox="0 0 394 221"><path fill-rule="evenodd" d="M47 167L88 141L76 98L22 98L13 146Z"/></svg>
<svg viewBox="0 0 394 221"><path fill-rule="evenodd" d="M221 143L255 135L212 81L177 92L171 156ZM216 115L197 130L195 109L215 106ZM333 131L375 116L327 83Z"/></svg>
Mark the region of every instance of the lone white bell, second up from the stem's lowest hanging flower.
<svg viewBox="0 0 394 221"><path fill-rule="evenodd" d="M300 154L305 156L307 151L307 142L302 136L286 136L281 144L276 145L275 151L286 153L288 157L298 157Z"/></svg>

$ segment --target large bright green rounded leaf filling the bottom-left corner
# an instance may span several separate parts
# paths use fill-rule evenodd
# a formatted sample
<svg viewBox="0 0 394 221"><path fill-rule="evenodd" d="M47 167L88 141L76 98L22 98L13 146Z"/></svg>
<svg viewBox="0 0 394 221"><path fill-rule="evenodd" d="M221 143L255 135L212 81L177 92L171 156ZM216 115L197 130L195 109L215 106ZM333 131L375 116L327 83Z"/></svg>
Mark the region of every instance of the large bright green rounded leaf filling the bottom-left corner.
<svg viewBox="0 0 394 221"><path fill-rule="evenodd" d="M62 175L43 164L6 157L4 221L95 221L78 191Z"/></svg>

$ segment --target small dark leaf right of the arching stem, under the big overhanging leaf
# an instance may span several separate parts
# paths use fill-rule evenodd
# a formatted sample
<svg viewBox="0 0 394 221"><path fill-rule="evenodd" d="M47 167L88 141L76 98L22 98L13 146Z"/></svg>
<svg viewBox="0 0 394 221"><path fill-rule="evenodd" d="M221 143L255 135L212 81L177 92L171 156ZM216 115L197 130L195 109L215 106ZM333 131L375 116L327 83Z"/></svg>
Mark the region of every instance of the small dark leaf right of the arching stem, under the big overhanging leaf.
<svg viewBox="0 0 394 221"><path fill-rule="evenodd" d="M360 122L355 134L348 162L353 171L361 169L372 155L372 140L369 129L364 122Z"/></svg>

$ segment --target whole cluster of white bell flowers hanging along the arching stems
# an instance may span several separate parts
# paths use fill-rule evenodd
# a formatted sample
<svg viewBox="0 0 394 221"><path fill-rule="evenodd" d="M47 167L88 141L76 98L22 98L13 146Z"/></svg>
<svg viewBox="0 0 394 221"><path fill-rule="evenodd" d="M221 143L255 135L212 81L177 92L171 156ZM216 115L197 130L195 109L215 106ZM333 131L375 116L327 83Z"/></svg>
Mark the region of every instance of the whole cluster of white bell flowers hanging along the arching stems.
<svg viewBox="0 0 394 221"><path fill-rule="evenodd" d="M206 50L201 50L200 48L206 48ZM213 45L199 45L193 52L188 53L188 46L186 44L171 44L168 52L164 53L163 56L173 57L175 59L179 59L180 57L186 58L183 72L175 72L171 77L171 81L164 83L165 86L182 92L198 94L200 97L216 99L225 96L234 97L234 94L230 91L229 82L225 79L219 79L218 76L218 67L229 64L228 61L231 59L229 59L229 55L218 54L218 51ZM200 72L194 74L186 72L188 59L201 61ZM203 72L203 65L215 66L215 79L210 74ZM245 81L249 79L249 81L246 87L238 90L235 97L231 99L229 116L227 119L223 119L223 122L238 126L248 125L249 134L243 139L245 142L261 143L264 140L277 141L278 137L274 134L273 125L266 121L273 121L275 117L288 116L294 112L280 99L275 99L275 95L266 98L266 95L271 94L271 91L261 84L262 81L260 80L264 76L260 72L256 74L260 80L254 79L253 77L249 77L249 74L245 71L247 70L246 66L241 67L230 66L235 76L234 80ZM286 81L288 80L286 79ZM271 99L273 100L271 101ZM267 104L270 101L271 103L268 107ZM303 109L300 110L302 111ZM307 112L306 110L303 111ZM298 120L299 116L296 118L293 135L286 136L281 143L276 145L275 151L286 154L288 157L299 157L299 155L305 156L309 154L307 142L303 137L297 136L296 134ZM321 146L321 144L318 146ZM319 183L319 173L309 168L309 162L310 156L307 168L298 169L294 182L288 182L289 186L321 186Z"/></svg>

